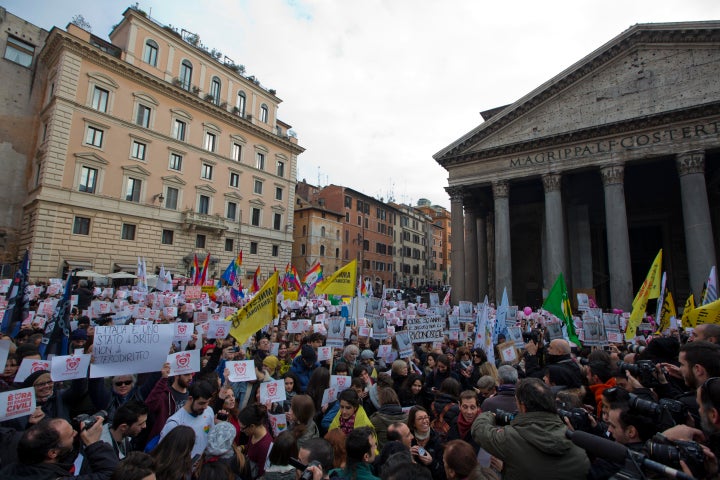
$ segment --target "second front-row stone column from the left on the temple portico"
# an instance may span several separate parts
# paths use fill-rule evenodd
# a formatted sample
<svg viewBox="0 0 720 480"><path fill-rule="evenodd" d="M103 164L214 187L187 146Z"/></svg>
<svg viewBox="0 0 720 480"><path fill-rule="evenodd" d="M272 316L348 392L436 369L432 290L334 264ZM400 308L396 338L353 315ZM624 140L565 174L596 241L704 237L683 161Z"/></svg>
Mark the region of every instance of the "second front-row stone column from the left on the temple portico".
<svg viewBox="0 0 720 480"><path fill-rule="evenodd" d="M512 251L510 245L510 184L507 181L493 182L495 199L495 299L502 298L507 288L512 304Z"/></svg>

